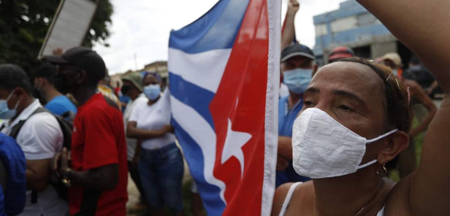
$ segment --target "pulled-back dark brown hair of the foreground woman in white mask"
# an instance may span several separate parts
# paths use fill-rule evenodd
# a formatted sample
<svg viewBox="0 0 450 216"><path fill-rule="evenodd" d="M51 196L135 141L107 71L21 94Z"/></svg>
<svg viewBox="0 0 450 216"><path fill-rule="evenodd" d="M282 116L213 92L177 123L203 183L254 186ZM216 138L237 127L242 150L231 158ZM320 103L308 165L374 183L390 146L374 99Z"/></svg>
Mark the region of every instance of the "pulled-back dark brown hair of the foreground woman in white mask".
<svg viewBox="0 0 450 216"><path fill-rule="evenodd" d="M410 131L413 114L409 93L403 82L396 79L395 75L392 74L391 69L382 64L369 62L358 57L339 59L336 62L360 63L375 71L383 79L384 83L388 127L395 127L404 132Z"/></svg>

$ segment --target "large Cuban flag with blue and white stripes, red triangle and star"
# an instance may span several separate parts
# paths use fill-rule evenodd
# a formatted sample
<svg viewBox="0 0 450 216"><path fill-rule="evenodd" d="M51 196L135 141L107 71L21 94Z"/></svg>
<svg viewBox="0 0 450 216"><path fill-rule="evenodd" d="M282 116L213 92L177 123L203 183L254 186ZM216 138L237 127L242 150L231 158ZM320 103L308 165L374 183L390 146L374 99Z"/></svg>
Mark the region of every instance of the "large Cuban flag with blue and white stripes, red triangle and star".
<svg viewBox="0 0 450 216"><path fill-rule="evenodd" d="M171 31L172 125L210 216L270 215L280 11L280 0L220 0Z"/></svg>

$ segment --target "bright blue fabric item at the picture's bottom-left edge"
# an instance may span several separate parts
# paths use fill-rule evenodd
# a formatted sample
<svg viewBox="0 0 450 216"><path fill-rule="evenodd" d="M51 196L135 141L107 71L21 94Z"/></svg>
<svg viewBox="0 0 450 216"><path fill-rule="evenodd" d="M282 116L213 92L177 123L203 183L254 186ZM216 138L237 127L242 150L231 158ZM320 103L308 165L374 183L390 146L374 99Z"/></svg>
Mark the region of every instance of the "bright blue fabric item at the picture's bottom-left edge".
<svg viewBox="0 0 450 216"><path fill-rule="evenodd" d="M8 177L6 188L0 190L0 216L17 215L25 206L27 164L20 146L3 133L0 133L0 160Z"/></svg>

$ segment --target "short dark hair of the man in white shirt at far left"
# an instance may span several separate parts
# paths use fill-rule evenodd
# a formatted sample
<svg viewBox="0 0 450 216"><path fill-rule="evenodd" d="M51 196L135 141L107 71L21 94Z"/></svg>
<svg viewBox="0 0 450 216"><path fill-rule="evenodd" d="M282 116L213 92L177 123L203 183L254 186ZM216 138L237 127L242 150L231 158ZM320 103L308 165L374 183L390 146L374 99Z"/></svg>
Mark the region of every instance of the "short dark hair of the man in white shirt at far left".
<svg viewBox="0 0 450 216"><path fill-rule="evenodd" d="M0 88L12 91L14 88L21 87L28 94L31 94L31 84L27 73L20 66L12 64L0 65Z"/></svg>

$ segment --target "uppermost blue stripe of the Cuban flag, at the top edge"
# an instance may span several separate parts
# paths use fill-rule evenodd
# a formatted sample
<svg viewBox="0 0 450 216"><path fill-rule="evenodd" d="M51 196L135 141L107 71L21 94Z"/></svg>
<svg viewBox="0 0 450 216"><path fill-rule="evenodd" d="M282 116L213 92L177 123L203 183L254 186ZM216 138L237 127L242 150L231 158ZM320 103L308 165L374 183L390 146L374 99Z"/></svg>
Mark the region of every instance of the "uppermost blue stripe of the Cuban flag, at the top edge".
<svg viewBox="0 0 450 216"><path fill-rule="evenodd" d="M171 31L169 47L185 53L232 48L249 0L220 0L202 17Z"/></svg>

